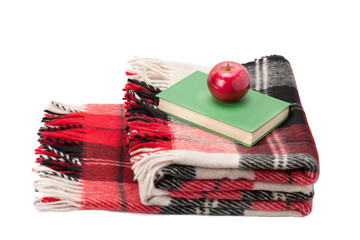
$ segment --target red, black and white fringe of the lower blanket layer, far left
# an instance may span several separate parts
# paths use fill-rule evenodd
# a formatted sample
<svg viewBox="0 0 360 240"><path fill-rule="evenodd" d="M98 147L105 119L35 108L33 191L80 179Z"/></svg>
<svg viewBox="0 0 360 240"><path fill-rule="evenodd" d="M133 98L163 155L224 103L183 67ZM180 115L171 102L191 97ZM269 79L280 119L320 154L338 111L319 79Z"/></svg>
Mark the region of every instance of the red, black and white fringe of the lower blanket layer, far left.
<svg viewBox="0 0 360 240"><path fill-rule="evenodd" d="M40 179L34 183L40 211L70 211L81 208L83 114L85 106L51 102L44 110L39 129L40 146L33 171Z"/></svg>

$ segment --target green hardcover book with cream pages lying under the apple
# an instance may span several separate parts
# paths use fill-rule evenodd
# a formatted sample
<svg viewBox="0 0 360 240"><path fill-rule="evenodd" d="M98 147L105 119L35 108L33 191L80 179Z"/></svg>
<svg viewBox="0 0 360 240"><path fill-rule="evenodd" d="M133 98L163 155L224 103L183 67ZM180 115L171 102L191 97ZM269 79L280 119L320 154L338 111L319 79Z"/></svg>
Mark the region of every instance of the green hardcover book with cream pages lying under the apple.
<svg viewBox="0 0 360 240"><path fill-rule="evenodd" d="M196 71L156 95L159 109L207 131L251 147L289 116L290 104L249 90L239 101L215 99L207 74Z"/></svg>

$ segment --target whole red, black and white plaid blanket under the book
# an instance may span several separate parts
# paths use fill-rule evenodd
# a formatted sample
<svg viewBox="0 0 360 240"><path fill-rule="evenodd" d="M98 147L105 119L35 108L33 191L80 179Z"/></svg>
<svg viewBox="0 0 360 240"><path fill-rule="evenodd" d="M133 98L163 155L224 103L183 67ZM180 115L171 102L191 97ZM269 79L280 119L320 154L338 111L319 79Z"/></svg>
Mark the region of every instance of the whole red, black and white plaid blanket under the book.
<svg viewBox="0 0 360 240"><path fill-rule="evenodd" d="M244 64L251 88L292 104L277 129L249 148L157 109L156 94L210 68L136 58L124 105L45 110L36 150L40 210L305 216L318 179L316 146L289 62Z"/></svg>

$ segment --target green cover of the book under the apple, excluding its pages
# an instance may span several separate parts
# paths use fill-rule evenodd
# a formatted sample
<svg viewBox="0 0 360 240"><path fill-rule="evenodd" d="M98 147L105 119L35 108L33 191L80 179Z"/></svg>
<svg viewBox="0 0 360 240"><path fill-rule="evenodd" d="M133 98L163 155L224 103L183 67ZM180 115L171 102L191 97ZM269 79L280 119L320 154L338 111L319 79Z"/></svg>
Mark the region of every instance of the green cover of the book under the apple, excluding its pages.
<svg viewBox="0 0 360 240"><path fill-rule="evenodd" d="M220 121L226 125L242 129L249 133L254 133L290 106L287 102L251 89L249 89L248 93L242 99L235 103L219 101L211 95L207 87L207 74L200 71L192 73L168 89L160 92L157 94L157 97L160 98L159 109L161 109L161 101L163 99L191 110L194 113L207 116L215 121ZM204 128L202 124L192 122L191 116L179 116L176 113L169 111L169 109L167 109L167 111L165 110L165 112L198 127ZM221 133L221 131L217 131L217 129L205 129L221 136L228 137L226 134ZM255 142L264 137L272 129L269 129ZM230 139L244 144L243 141L238 139ZM245 143L244 145L252 146L255 142L250 144Z"/></svg>

